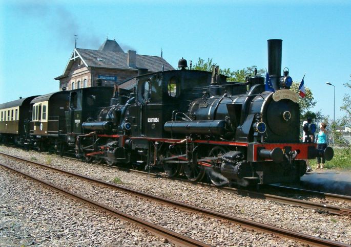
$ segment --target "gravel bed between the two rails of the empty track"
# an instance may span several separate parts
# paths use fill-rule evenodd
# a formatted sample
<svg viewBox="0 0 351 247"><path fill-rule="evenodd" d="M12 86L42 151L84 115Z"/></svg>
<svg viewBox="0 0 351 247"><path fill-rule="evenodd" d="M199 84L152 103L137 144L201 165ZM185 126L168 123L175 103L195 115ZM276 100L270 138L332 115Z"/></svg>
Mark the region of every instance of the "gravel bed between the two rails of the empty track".
<svg viewBox="0 0 351 247"><path fill-rule="evenodd" d="M64 175L50 169L28 163L19 163L9 158L3 158L2 162L26 173L34 174L38 178L50 181L50 183L61 188L213 246L250 245L252 241L260 246L265 245L266 242L270 242L269 245L273 246L287 243L285 239L279 239L270 234L258 234L247 231L228 221L183 212L174 207L164 206L154 201L96 185L84 179ZM290 243L300 245L298 242L290 241Z"/></svg>

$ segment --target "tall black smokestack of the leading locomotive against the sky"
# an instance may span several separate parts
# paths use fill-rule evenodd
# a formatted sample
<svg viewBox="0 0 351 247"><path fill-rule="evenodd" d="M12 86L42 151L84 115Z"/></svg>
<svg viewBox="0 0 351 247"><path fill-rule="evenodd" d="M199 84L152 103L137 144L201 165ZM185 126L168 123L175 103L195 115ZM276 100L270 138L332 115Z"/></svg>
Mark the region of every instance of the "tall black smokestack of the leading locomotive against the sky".
<svg viewBox="0 0 351 247"><path fill-rule="evenodd" d="M275 90L280 88L279 79L281 77L281 39L269 39L268 42L268 74Z"/></svg>

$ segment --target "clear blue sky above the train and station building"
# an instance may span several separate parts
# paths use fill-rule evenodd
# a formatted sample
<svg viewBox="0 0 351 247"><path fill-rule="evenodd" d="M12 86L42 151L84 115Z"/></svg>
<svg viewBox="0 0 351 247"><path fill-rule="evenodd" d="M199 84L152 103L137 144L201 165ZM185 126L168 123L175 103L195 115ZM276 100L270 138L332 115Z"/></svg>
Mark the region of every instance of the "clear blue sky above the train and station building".
<svg viewBox="0 0 351 247"><path fill-rule="evenodd" d="M329 3L330 2L330 3ZM0 0L0 103L58 90L74 48L109 39L126 51L213 58L221 68L267 68L267 39L283 39L282 68L306 74L314 110L333 118L351 74L351 1L4 1Z"/></svg>

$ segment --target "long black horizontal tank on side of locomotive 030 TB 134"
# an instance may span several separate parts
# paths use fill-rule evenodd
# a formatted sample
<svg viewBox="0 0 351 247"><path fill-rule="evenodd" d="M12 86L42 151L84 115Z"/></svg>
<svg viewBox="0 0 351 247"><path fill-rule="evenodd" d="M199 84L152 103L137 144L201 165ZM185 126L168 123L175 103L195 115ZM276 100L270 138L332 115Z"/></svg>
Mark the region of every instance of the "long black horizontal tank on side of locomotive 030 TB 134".
<svg viewBox="0 0 351 247"><path fill-rule="evenodd" d="M169 121L164 124L164 130L172 133L213 134L214 136L223 136L225 133L225 121Z"/></svg>

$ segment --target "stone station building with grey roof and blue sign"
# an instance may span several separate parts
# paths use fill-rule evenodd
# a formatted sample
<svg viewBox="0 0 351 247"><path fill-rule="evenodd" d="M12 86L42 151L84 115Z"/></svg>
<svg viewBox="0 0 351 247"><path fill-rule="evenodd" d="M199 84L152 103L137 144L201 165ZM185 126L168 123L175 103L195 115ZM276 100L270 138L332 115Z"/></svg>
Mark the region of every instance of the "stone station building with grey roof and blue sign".
<svg viewBox="0 0 351 247"><path fill-rule="evenodd" d="M158 56L124 52L116 40L106 39L98 50L74 48L59 80L60 91L96 85L113 86L143 73L174 70Z"/></svg>

